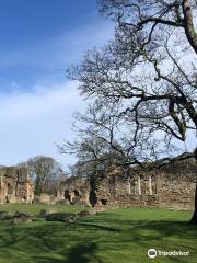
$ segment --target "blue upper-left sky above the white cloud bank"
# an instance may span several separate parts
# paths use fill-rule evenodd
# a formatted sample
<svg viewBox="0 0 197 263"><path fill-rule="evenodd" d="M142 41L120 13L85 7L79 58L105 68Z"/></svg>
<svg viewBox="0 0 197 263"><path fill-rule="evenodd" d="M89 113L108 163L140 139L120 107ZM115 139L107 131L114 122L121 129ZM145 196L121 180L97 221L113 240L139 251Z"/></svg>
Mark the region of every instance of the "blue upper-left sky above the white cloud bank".
<svg viewBox="0 0 197 263"><path fill-rule="evenodd" d="M69 62L97 44L94 33L105 25L96 0L1 1L0 90L8 92L11 80L28 90L28 81L35 83L47 73L61 76Z"/></svg>

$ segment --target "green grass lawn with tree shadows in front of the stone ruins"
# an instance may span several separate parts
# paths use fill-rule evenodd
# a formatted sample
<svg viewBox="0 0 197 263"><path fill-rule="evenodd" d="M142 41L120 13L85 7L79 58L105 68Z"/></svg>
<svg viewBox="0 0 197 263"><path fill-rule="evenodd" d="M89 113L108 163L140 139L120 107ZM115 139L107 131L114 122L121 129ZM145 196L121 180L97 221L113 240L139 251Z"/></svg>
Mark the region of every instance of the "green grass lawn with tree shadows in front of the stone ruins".
<svg viewBox="0 0 197 263"><path fill-rule="evenodd" d="M37 215L47 205L1 205L1 210ZM55 206L72 214L84 207ZM0 263L146 263L197 262L197 228L189 211L121 208L86 216L78 222L0 221ZM189 256L149 259L150 248L189 251Z"/></svg>

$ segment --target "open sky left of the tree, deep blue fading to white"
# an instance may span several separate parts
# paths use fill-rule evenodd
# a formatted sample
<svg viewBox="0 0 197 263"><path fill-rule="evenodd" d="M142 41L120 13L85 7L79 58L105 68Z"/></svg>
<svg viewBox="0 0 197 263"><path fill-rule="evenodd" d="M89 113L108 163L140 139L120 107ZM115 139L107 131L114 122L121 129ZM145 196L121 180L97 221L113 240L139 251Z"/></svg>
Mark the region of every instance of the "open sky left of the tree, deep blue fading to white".
<svg viewBox="0 0 197 263"><path fill-rule="evenodd" d="M0 164L73 161L55 144L72 138L71 116L85 106L65 70L112 34L96 0L0 1Z"/></svg>

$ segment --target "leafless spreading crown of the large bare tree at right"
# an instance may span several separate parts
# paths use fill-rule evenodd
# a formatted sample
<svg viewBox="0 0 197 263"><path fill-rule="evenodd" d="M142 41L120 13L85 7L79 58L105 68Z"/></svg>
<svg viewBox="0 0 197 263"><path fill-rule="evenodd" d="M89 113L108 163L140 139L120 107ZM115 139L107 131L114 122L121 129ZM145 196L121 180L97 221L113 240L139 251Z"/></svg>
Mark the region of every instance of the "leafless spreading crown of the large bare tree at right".
<svg viewBox="0 0 197 263"><path fill-rule="evenodd" d="M197 130L196 1L100 2L116 23L115 37L68 70L90 102L80 116L86 136L123 156L125 165L196 158L196 145L185 149Z"/></svg>

